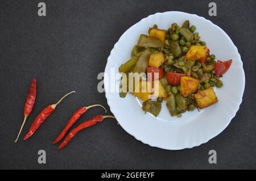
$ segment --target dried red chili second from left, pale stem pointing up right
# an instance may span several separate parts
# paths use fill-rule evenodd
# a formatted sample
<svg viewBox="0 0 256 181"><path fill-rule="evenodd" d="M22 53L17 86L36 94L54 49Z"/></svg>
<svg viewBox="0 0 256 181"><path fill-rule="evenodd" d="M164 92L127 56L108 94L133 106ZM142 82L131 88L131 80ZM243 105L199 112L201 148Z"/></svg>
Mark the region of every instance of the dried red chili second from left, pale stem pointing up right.
<svg viewBox="0 0 256 181"><path fill-rule="evenodd" d="M56 104L52 104L47 106L42 112L39 113L39 115L36 117L36 119L34 120L34 122L32 123L30 129L28 130L28 133L26 134L26 136L23 138L23 140L27 140L28 138L30 138L35 132L36 130L38 130L38 128L40 127L40 125L43 124L43 122L47 119L47 117L49 117L49 115L51 115L54 111L56 106L69 94L72 94L76 91L72 91L69 92L68 94L64 95Z"/></svg>

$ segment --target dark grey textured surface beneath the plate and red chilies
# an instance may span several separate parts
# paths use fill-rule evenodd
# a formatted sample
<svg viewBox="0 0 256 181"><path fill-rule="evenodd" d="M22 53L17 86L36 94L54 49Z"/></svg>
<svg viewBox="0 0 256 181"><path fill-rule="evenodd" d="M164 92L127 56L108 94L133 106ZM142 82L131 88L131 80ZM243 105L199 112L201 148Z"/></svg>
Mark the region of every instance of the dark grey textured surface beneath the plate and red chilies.
<svg viewBox="0 0 256 181"><path fill-rule="evenodd" d="M255 9L256 1L217 1L217 16L208 15L210 1L0 1L0 169L256 169ZM207 144L168 151L151 148L108 120L76 137L61 151L51 145L78 107L107 106L97 92L97 74L123 32L142 18L164 11L184 11L212 20L237 46L246 74L243 103L232 123ZM57 107L28 141L14 144L32 77L38 96L21 138L35 116L65 92L77 90ZM88 119L100 108L90 110ZM81 121L80 120L80 121ZM38 150L47 163L38 164ZM208 151L217 151L217 164Z"/></svg>

